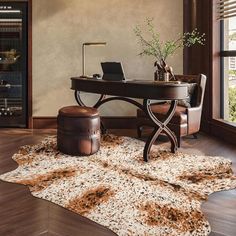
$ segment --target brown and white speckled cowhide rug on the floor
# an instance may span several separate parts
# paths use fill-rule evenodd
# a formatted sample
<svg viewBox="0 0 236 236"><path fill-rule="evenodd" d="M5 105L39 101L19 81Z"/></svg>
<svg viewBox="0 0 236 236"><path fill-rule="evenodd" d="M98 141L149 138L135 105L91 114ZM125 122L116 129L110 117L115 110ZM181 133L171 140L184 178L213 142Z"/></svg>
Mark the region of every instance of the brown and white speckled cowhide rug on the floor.
<svg viewBox="0 0 236 236"><path fill-rule="evenodd" d="M106 135L100 151L68 156L56 137L21 147L19 167L0 179L27 185L47 199L118 235L208 235L201 204L213 192L236 187L231 162L222 157L172 154L153 146L143 162L142 141Z"/></svg>

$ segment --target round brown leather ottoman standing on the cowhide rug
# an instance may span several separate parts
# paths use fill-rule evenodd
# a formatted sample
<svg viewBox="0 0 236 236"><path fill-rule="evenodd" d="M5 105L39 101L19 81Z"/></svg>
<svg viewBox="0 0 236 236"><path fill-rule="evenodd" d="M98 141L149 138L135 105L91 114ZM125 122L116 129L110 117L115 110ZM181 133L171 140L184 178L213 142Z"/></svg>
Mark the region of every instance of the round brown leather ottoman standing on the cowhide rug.
<svg viewBox="0 0 236 236"><path fill-rule="evenodd" d="M91 155L100 148L100 117L97 109L68 106L57 116L57 147L69 155Z"/></svg>

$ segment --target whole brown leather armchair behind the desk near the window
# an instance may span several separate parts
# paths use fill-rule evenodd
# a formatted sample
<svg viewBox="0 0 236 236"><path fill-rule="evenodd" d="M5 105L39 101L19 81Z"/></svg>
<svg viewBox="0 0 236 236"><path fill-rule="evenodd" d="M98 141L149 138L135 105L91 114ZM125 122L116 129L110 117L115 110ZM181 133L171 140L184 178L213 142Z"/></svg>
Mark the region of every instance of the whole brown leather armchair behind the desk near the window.
<svg viewBox="0 0 236 236"><path fill-rule="evenodd" d="M180 147L180 139L186 135L194 135L197 138L196 133L200 129L201 114L203 106L203 98L206 87L206 76L199 75L176 75L175 80L189 83L189 103L186 101L178 102L176 111L168 127L175 132L177 137L178 146ZM191 91L192 90L192 91ZM155 116L162 120L165 117L169 109L170 104L168 102L156 103L151 105L151 109ZM147 118L146 114L138 109L137 110L137 131L138 136L141 137L142 130L145 126L153 127L153 122Z"/></svg>

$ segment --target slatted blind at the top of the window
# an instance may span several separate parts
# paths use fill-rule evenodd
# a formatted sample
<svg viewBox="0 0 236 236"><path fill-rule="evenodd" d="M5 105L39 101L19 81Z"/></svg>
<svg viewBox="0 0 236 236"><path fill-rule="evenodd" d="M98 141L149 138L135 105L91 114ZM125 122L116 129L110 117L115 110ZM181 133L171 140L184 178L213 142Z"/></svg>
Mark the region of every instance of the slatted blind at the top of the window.
<svg viewBox="0 0 236 236"><path fill-rule="evenodd" d="M236 17L236 0L219 0L219 19Z"/></svg>

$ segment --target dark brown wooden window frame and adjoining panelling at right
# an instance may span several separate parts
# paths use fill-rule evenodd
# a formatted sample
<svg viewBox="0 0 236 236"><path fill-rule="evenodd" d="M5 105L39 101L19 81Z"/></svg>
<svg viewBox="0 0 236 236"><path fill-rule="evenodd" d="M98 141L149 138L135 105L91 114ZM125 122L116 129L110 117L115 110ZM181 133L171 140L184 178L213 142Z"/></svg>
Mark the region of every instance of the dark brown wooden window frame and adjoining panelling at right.
<svg viewBox="0 0 236 236"><path fill-rule="evenodd" d="M207 76L201 131L236 145L236 125L220 119L219 0L183 0L183 30L206 33L204 47L184 48L184 74Z"/></svg>

